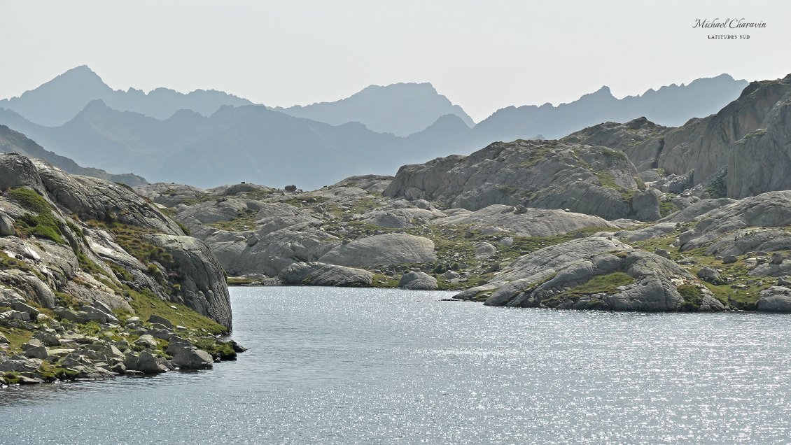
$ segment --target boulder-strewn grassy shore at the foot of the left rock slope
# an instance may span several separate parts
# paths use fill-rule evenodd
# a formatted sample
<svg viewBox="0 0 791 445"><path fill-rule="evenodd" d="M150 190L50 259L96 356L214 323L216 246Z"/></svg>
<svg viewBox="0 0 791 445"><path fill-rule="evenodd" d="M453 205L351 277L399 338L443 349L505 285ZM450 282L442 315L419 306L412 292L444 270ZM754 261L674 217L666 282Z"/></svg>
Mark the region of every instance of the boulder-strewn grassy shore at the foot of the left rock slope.
<svg viewBox="0 0 791 445"><path fill-rule="evenodd" d="M0 323L14 337L32 336L18 347L0 334L0 388L9 385L115 379L118 375L153 375L177 369L206 369L225 360L237 360L244 347L221 336L173 326L151 315L147 322L129 317L123 322L97 307L56 311L53 319L17 300L0 300L10 311ZM73 320L73 321L68 321Z"/></svg>

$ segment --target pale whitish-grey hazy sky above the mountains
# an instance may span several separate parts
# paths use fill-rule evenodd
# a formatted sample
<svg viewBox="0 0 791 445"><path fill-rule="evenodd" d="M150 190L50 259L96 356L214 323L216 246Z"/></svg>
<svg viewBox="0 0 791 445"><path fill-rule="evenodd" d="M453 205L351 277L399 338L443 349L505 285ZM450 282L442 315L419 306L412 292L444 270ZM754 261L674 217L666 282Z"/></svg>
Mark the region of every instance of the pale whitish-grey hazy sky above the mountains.
<svg viewBox="0 0 791 445"><path fill-rule="evenodd" d="M764 21L749 40L695 19ZM791 73L791 2L0 0L0 98L74 66L115 89L221 89L271 106L430 81L475 121L721 73ZM739 34L738 30L725 30Z"/></svg>

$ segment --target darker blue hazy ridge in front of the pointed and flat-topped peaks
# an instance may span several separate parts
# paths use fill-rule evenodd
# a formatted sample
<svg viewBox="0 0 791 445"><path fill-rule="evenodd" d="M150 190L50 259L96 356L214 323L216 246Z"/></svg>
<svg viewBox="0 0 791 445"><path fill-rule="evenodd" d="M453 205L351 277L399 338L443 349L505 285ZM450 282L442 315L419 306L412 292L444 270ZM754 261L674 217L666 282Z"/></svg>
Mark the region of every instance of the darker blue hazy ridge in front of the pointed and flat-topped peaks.
<svg viewBox="0 0 791 445"><path fill-rule="evenodd" d="M209 117L182 110L159 120L113 110L100 100L62 126L41 126L7 110L0 111L0 122L81 163L123 166L149 180L200 187L239 181L321 187L354 173L393 172L400 164L440 156L469 131L458 116L447 115L399 138L361 123L331 126L260 105L225 106Z"/></svg>

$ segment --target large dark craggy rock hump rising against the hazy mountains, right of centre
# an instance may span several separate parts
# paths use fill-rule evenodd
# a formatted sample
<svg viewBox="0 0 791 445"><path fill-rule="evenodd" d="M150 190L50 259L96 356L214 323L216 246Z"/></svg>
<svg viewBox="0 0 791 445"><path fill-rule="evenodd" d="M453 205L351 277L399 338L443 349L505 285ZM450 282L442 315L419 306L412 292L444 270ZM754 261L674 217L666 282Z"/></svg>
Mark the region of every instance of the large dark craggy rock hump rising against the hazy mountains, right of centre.
<svg viewBox="0 0 791 445"><path fill-rule="evenodd" d="M447 206L493 204L570 209L608 220L636 217L638 172L620 150L563 141L495 142L468 157L437 158L399 169L385 196L425 198ZM658 217L642 209L642 217Z"/></svg>

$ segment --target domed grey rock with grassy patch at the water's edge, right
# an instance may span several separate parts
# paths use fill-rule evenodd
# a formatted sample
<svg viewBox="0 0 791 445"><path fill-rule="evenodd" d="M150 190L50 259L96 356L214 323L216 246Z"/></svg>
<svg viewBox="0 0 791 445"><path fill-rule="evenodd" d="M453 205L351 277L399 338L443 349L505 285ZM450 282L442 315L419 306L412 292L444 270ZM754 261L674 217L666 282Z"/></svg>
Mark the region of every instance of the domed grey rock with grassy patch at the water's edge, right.
<svg viewBox="0 0 791 445"><path fill-rule="evenodd" d="M456 296L489 306L615 311L723 310L683 267L613 239L573 239L513 262L498 282Z"/></svg>

